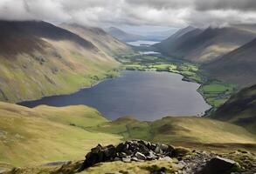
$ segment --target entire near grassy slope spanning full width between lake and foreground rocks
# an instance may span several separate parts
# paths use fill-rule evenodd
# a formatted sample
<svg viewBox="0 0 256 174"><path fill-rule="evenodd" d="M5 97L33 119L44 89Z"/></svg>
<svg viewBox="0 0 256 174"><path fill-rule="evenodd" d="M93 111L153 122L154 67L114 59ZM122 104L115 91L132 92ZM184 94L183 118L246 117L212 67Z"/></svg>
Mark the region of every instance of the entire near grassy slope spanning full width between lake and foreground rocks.
<svg viewBox="0 0 256 174"><path fill-rule="evenodd" d="M6 103L0 103L0 117L0 162L15 165L82 159L96 144L121 139L203 149L205 144L256 144L255 135L238 125L200 117L165 117L152 123L122 117L108 122L97 110L81 105L29 109Z"/></svg>

